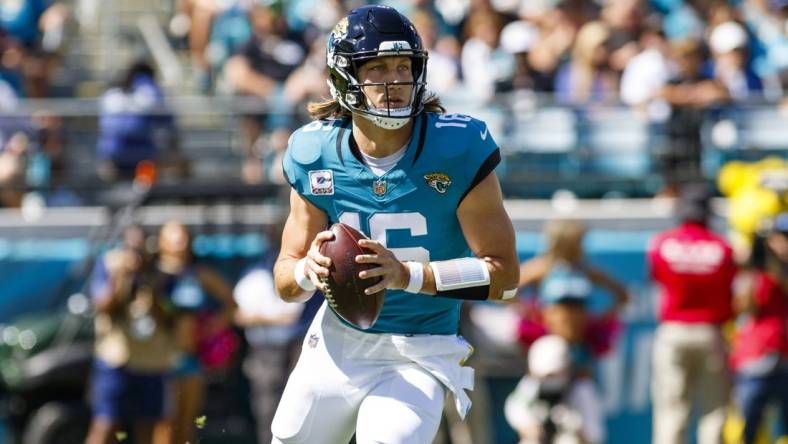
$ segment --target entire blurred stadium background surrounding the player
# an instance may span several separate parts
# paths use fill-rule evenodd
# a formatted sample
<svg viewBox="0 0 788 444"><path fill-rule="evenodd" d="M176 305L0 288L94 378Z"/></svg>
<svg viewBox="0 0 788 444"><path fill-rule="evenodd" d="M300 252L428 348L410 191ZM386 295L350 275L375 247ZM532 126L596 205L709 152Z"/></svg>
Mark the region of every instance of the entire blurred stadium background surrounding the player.
<svg viewBox="0 0 788 444"><path fill-rule="evenodd" d="M321 302L272 288L281 155L363 3L0 0L0 444L270 442ZM437 441L783 435L788 1L379 3L501 146L523 260Z"/></svg>

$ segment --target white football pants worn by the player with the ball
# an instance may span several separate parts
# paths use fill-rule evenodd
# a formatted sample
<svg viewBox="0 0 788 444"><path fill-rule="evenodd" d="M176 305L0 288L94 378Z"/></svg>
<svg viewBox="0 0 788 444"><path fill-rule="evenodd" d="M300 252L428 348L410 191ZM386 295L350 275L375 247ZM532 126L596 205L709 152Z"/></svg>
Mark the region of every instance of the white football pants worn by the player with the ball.
<svg viewBox="0 0 788 444"><path fill-rule="evenodd" d="M345 444L353 433L358 444L431 443L446 395L439 379L445 380L447 372L436 374L403 355L403 342L413 348L414 341L425 343L419 338L432 345L436 339L447 347L459 344L465 350L460 358L471 350L458 336L356 331L323 304L279 402L273 444ZM459 362L446 364L460 367Z"/></svg>

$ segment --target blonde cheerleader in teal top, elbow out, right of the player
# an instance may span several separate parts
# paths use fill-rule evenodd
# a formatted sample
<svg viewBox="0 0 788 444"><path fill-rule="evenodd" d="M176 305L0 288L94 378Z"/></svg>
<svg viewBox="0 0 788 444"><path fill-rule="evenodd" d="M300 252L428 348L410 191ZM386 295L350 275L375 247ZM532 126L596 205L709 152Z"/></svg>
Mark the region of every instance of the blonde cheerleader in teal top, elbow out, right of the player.
<svg viewBox="0 0 788 444"><path fill-rule="evenodd" d="M537 288L540 310L538 315L526 311L520 335L526 345L544 333L561 336L572 349L573 369L590 375L594 356L612 346L617 334L616 314L628 295L618 281L586 261L585 233L586 226L577 221L547 223L547 251L520 267L519 287ZM601 316L592 312L594 286L613 296L613 303Z"/></svg>

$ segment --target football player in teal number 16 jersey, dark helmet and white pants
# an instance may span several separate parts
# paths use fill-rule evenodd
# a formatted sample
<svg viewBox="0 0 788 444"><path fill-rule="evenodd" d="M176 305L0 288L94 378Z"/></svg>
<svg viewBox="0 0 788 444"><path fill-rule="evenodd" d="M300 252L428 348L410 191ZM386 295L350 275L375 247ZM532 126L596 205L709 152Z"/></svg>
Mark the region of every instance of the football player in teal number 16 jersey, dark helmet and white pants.
<svg viewBox="0 0 788 444"><path fill-rule="evenodd" d="M385 6L351 11L328 38L332 99L290 138L290 214L275 266L286 301L325 290L326 228L366 233L356 257L386 289L359 330L325 304L307 332L273 421L274 443L430 443L445 393L470 407L472 347L457 335L465 300L514 295L514 230L484 122L444 114L426 90L427 53L411 22Z"/></svg>

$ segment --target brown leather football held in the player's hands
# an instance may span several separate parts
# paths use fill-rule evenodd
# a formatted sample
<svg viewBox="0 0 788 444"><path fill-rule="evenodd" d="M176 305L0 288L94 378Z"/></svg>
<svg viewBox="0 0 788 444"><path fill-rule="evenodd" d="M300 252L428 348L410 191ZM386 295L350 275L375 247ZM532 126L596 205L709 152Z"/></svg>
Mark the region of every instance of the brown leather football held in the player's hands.
<svg viewBox="0 0 788 444"><path fill-rule="evenodd" d="M376 267L375 264L356 262L359 254L372 253L358 244L359 239L366 239L366 236L343 223L332 225L331 232L334 233L334 238L320 246L320 254L331 258L326 301L342 319L366 330L378 319L386 291L368 295L364 294L364 290L380 282L382 278L358 277L360 271Z"/></svg>

